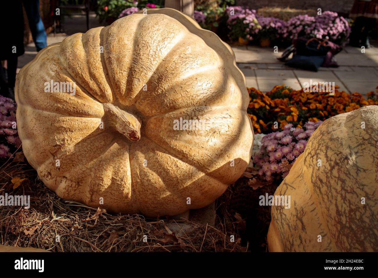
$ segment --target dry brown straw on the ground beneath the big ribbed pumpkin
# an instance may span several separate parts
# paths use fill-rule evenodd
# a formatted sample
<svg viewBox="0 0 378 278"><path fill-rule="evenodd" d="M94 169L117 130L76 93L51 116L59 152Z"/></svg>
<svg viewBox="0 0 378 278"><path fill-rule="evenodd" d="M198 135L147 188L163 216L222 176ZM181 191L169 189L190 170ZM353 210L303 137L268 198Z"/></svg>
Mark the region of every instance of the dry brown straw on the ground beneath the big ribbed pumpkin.
<svg viewBox="0 0 378 278"><path fill-rule="evenodd" d="M234 225L228 216L218 215L215 227L186 221L186 225L194 228L175 235L169 226L180 222L177 220L113 215L100 208L62 200L43 185L34 169L23 162L5 163L0 172L0 195L30 195L29 209L0 207L2 245L53 252L246 251L237 233L229 230ZM22 183L15 187L11 180L22 180ZM217 207L225 209L222 204ZM235 242L230 242L229 235L235 235ZM143 241L144 236L147 236L147 242Z"/></svg>

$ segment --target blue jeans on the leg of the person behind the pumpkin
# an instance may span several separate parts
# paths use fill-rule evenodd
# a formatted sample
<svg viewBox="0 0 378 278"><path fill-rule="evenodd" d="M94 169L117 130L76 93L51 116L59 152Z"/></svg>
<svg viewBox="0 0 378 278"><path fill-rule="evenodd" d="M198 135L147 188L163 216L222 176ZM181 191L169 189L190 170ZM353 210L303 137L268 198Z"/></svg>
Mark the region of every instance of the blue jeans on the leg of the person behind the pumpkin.
<svg viewBox="0 0 378 278"><path fill-rule="evenodd" d="M43 26L42 19L39 15L39 0L23 0L23 6L28 16L29 27L37 51L47 46L47 35L45 26Z"/></svg>

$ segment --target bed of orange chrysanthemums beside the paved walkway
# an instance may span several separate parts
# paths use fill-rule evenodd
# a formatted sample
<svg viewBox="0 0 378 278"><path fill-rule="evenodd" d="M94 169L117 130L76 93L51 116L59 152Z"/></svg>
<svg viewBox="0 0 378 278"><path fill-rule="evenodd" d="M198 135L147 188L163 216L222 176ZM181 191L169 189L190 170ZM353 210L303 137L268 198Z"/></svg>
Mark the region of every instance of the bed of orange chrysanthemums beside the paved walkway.
<svg viewBox="0 0 378 278"><path fill-rule="evenodd" d="M350 94L338 89L336 86L335 95L329 95L325 92L306 93L303 89L293 90L285 85L277 85L266 94L247 88L247 112L255 134L282 130L288 123L302 127L307 121L316 123L363 106L378 105L378 90L367 93L364 98L360 93Z"/></svg>

